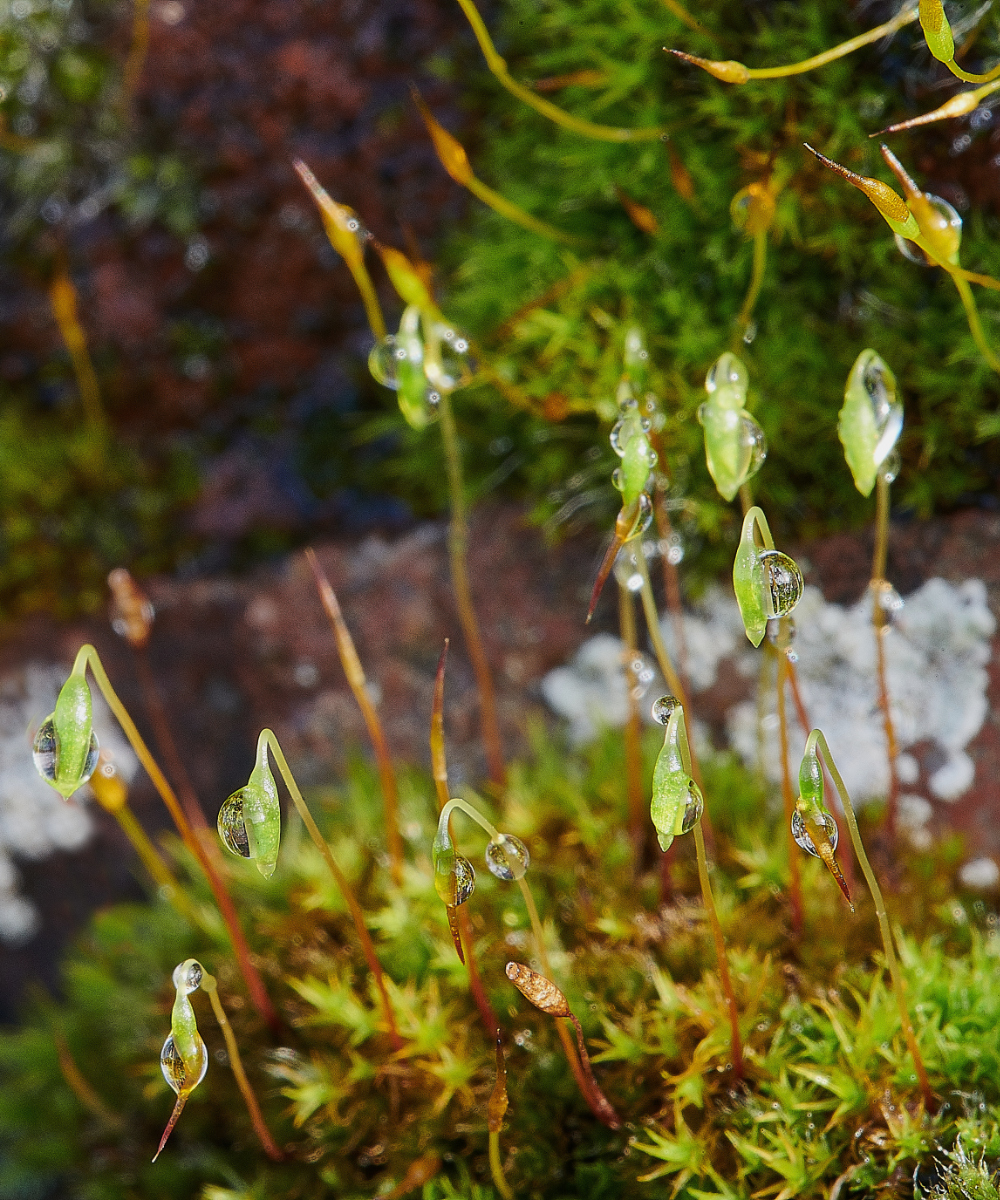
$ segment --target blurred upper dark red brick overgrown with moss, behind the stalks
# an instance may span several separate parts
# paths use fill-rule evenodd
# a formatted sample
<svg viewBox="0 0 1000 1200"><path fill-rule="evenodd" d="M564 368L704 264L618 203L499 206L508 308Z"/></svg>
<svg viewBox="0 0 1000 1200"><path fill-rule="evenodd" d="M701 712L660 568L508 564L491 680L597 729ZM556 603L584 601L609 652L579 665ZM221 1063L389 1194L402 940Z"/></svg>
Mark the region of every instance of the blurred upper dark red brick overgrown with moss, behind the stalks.
<svg viewBox="0 0 1000 1200"><path fill-rule="evenodd" d="M180 0L2 0L0 456L19 480L19 491L5 484L2 613L90 606L120 562L239 568L317 532L441 511L436 439L408 431L367 377L361 307L294 155L379 239L435 262L445 311L473 334L493 380L459 397L473 496L525 499L553 535L609 523L606 427L624 329L639 323L677 523L689 558L721 564L733 516L711 488L695 413L749 283L752 244L730 204L759 184L776 211L743 354L771 446L760 499L778 535L867 516L834 438L863 346L892 365L906 400L897 504L921 516L994 505L998 380L954 290L903 259L863 197L802 149L886 176L869 133L956 90L918 26L812 74L742 88L663 52L791 61L892 13L712 0L697 28L661 0L511 0L487 13L513 74L540 95L589 120L664 131L616 144L504 92L457 7L432 0L238 0L224 14ZM998 48L995 22L971 4L952 18L976 68ZM413 80L480 178L582 241L549 241L467 204L435 158ZM987 104L892 139L922 186L963 214L963 263L986 272L1000 270L998 138ZM76 286L108 418L89 468L48 299L60 272ZM391 320L381 276L379 287ZM980 300L992 337L998 301ZM22 455L19 438L44 450Z"/></svg>

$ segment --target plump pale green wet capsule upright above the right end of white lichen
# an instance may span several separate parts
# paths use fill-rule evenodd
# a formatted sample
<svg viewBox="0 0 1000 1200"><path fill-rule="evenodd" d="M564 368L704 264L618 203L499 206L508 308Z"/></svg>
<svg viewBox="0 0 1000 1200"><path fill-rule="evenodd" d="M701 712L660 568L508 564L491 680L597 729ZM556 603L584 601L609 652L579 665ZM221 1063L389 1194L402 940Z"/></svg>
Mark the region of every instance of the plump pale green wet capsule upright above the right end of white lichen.
<svg viewBox="0 0 1000 1200"><path fill-rule="evenodd" d="M888 458L903 430L903 403L896 377L875 350L855 359L837 432L844 457L862 496L870 496L879 468Z"/></svg>

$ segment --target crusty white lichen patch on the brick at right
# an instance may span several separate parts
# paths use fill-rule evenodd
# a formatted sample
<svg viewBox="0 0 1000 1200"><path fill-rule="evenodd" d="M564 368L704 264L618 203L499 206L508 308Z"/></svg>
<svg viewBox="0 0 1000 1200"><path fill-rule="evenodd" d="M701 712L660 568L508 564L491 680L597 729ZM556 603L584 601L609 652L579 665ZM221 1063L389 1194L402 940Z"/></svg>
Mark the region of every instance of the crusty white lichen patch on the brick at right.
<svg viewBox="0 0 1000 1200"><path fill-rule="evenodd" d="M870 599L864 596L844 607L827 604L819 589L809 587L795 611L795 623L798 680L812 726L826 734L855 802L885 797L888 761L879 709ZM672 620L664 618L661 628L676 661ZM749 648L736 601L727 594L711 592L696 612L684 613L683 629L688 676L695 694L715 683L723 662L741 676L760 676L760 653ZM900 751L897 772L905 786L920 780L918 758L905 752L918 744L932 796L954 800L972 785L975 763L966 746L987 715L984 668L994 630L981 580L963 583L928 580L893 612L893 628L882 636ZM623 643L603 634L585 642L568 666L545 677L543 695L570 721L575 743L592 739L601 728L624 725L628 692L623 664ZM651 694L658 694L659 686L661 680L657 677ZM766 673L761 700L760 706L756 700L747 700L730 708L726 730L730 744L749 766L758 763L762 738L765 772L778 784L773 670ZM642 708L643 715L647 707ZM792 768L797 769L797 754L808 731L798 726L790 702L788 715ZM900 797L900 822L918 845L929 840L926 827L930 811L930 803L923 797Z"/></svg>

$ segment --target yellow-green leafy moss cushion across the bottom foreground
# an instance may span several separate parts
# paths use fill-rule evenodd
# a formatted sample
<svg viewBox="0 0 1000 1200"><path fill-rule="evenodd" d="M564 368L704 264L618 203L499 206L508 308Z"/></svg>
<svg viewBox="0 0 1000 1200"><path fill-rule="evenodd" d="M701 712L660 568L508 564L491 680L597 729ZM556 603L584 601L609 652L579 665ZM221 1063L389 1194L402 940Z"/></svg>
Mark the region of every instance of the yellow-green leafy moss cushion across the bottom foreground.
<svg viewBox="0 0 1000 1200"><path fill-rule="evenodd" d="M647 785L655 740L645 746ZM647 847L636 858L625 832L621 736L571 755L535 730L502 803L478 798L531 850L553 976L624 1122L611 1130L595 1120L559 1052L556 1022L508 982L508 961L535 960L528 914L511 884L481 871L468 908L507 1052L501 1153L514 1194L910 1196L916 1178L922 1195L995 1195L988 1165L978 1163L1000 1156L1000 940L995 912L956 894L959 847L900 850L881 863L903 928L914 1025L938 1100L932 1112L921 1103L868 898L857 896L850 916L810 860L804 932L795 940L778 818L730 757L709 757L705 772L713 886L745 1043L743 1084L729 1061L690 847L681 846L665 895L659 853ZM175 846L197 920L166 894L98 914L66 964L65 997L35 996L24 1027L0 1038L0 1194L497 1194L486 1115L495 1046L433 890L432 785L413 772L401 776L399 886L370 767L359 761L343 785L310 799L364 907L402 1049L393 1050L349 914L294 816L269 881L251 864L233 860L228 870L280 1014L277 1033L248 1003L206 886ZM878 846L876 835L869 840ZM469 857L483 848L465 830L459 845ZM264 1156L197 997L209 1073L150 1163L173 1100L158 1063L170 973L192 954L218 979L281 1163ZM946 1193L959 1171L972 1183Z"/></svg>

